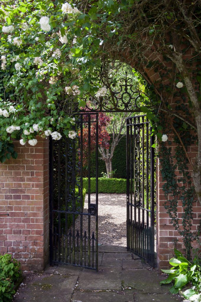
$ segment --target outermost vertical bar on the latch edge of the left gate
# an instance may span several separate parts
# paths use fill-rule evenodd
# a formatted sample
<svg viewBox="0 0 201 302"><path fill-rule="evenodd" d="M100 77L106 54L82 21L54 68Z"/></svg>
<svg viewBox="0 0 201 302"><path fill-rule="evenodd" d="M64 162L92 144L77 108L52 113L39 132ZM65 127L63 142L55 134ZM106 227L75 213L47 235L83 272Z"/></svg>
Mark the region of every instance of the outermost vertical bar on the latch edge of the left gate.
<svg viewBox="0 0 201 302"><path fill-rule="evenodd" d="M98 271L98 113L96 114L96 271Z"/></svg>

